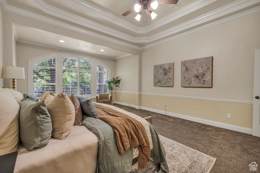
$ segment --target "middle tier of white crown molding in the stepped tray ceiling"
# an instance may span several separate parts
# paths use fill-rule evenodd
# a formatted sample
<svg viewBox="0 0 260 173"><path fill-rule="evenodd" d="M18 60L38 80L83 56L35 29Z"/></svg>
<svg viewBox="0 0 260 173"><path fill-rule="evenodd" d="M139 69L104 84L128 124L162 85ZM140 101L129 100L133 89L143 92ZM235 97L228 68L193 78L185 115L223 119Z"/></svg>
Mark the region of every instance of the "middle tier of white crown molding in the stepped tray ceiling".
<svg viewBox="0 0 260 173"><path fill-rule="evenodd" d="M206 13L204 15L201 15L199 17L196 17L194 19L191 19L187 22L184 22L182 24L179 24L177 26L174 26L170 29L164 30L162 32L159 32L157 34L154 34L149 37L133 37L128 34L116 31L114 29L111 29L109 27L97 24L95 22L92 22L90 20L84 19L82 17L76 16L72 13L60 10L58 8L55 8L53 6L50 6L46 4L43 0L29 0L31 3L36 5L39 9L41 9L43 12L48 13L50 15L53 15L55 17L59 17L65 20L68 20L70 22L74 22L92 29L95 29L97 31L109 34L111 36L118 37L120 39L130 41L132 43L150 43L152 41L156 41L158 39L170 36L172 34L175 34L177 32L181 32L183 30L189 29L191 27L203 24L205 22L209 22L210 20L222 17L224 15L227 15L229 13L241 10L243 8L246 8L248 6L254 5L256 3L259 3L260 0L238 0L233 3L230 3L228 5L225 5L221 8L218 8L216 10L213 10L209 13ZM71 0L69 0L71 1ZM77 0L79 1L79 0ZM213 1L213 0L209 0ZM181 10L181 9L180 9Z"/></svg>

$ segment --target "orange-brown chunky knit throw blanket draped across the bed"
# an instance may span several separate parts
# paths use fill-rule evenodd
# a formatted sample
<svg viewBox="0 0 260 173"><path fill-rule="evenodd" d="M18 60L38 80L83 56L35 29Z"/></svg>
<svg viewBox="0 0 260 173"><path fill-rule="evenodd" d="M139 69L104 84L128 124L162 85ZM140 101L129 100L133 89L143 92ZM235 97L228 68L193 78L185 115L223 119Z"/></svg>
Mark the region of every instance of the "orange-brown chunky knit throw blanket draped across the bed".
<svg viewBox="0 0 260 173"><path fill-rule="evenodd" d="M97 119L106 121L115 131L119 153L122 155L130 148L138 147L138 169L145 169L151 155L150 144L144 126L131 116L115 109L93 103Z"/></svg>

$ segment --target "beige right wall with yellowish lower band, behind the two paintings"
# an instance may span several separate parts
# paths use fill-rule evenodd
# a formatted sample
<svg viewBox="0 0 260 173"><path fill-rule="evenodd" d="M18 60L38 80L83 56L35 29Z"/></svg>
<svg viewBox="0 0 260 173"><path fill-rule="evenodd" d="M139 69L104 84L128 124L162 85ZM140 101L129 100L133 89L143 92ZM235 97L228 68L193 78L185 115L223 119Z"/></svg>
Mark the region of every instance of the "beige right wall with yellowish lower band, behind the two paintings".
<svg viewBox="0 0 260 173"><path fill-rule="evenodd" d="M260 49L259 19L260 13L256 13L143 50L141 93L252 102L254 50ZM213 87L181 87L181 61L209 56L213 56ZM154 87L153 66L172 62L174 87ZM129 60L122 59L120 68L127 68L128 63ZM127 92L127 89L122 87L121 91ZM116 101L135 105L136 98L128 95L117 93ZM122 101L119 96L128 99ZM164 104L167 104L167 112L252 128L252 104L147 94L139 94L139 99L138 106L165 110ZM227 118L228 113L232 114L231 119Z"/></svg>

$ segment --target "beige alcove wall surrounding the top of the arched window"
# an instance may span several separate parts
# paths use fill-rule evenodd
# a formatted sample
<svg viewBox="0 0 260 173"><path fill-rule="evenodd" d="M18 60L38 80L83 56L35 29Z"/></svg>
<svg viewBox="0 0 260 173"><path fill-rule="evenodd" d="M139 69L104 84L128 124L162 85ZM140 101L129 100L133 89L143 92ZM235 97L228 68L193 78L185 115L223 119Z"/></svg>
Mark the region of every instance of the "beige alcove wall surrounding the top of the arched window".
<svg viewBox="0 0 260 173"><path fill-rule="evenodd" d="M40 55L55 53L55 52L68 52L68 51L17 42L17 66L24 67L24 72L25 72L25 80L23 79L17 80L19 83L17 85L17 91L21 93L28 93L28 60ZM111 68L111 76L115 75L115 60L96 57L96 56L90 56L90 57L96 58L100 60L102 63L106 64L109 68Z"/></svg>

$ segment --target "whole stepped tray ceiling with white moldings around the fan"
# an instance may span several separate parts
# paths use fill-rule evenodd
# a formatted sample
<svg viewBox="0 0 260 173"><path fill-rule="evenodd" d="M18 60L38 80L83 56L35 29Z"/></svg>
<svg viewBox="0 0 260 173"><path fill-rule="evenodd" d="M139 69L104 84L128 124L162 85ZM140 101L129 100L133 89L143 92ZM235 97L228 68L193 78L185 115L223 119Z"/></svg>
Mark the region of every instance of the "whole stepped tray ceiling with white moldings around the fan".
<svg viewBox="0 0 260 173"><path fill-rule="evenodd" d="M136 12L121 14L136 0L0 0L3 9L120 45L142 50L222 23L260 12L260 0L179 0L181 8L159 5L144 22ZM67 21L67 22L66 22Z"/></svg>

